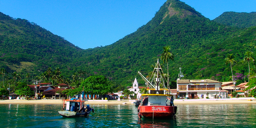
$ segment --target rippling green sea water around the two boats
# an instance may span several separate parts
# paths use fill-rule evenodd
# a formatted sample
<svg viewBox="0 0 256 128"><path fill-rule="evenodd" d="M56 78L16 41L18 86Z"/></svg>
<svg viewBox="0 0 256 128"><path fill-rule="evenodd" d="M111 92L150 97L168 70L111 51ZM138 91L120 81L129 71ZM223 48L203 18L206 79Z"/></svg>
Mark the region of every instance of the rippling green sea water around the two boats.
<svg viewBox="0 0 256 128"><path fill-rule="evenodd" d="M61 105L0 104L1 128L158 128L225 127L256 128L256 105L177 105L172 119L138 118L133 105L91 105L88 117L64 118Z"/></svg>

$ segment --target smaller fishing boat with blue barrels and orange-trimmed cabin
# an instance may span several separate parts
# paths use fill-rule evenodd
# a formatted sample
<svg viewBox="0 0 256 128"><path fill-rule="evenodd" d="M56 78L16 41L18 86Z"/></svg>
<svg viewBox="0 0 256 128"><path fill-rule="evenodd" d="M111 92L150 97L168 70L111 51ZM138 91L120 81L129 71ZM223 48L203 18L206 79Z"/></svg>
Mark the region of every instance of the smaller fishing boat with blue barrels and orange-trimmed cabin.
<svg viewBox="0 0 256 128"><path fill-rule="evenodd" d="M63 117L79 117L79 116L89 116L91 112L94 112L94 109L90 107L89 104L85 104L84 93L81 94L81 99L72 98L69 100L63 100L63 107L58 113Z"/></svg>

